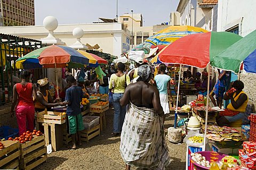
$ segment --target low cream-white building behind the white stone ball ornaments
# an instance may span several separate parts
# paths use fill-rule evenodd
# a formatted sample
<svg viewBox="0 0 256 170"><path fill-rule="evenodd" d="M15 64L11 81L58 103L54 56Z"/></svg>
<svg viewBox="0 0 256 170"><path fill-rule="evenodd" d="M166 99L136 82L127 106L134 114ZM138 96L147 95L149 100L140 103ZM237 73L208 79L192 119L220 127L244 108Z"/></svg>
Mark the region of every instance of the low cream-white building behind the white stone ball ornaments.
<svg viewBox="0 0 256 170"><path fill-rule="evenodd" d="M84 31L81 38L83 44L98 44L98 50L118 57L130 50L130 31L118 22L59 25L54 30L54 36L67 46L73 45L76 42L73 30L77 27ZM41 40L48 35L48 30L44 26L0 27L0 33Z"/></svg>

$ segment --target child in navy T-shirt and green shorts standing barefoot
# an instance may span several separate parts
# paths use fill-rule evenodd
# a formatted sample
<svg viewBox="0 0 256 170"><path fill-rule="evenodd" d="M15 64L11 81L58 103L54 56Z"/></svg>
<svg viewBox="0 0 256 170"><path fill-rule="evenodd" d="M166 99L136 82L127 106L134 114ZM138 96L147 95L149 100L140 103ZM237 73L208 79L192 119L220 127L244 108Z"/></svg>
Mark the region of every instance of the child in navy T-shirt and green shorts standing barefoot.
<svg viewBox="0 0 256 170"><path fill-rule="evenodd" d="M84 129L80 102L83 99L82 88L77 86L76 80L73 76L67 77L69 88L66 90L66 97L64 104L68 104L67 115L69 123L69 134L71 134L73 145L69 148L76 149L76 144L82 145L81 131ZM76 143L77 134L77 143Z"/></svg>

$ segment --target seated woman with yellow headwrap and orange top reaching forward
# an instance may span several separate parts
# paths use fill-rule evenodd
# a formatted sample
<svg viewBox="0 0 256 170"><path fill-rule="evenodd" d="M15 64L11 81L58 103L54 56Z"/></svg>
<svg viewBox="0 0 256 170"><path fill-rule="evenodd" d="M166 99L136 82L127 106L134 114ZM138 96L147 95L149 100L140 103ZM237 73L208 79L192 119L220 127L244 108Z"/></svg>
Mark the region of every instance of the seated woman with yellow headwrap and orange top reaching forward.
<svg viewBox="0 0 256 170"><path fill-rule="evenodd" d="M43 78L37 81L40 90L37 91L37 99L35 101L35 110L43 111L45 108L51 108L55 106L63 106L63 103L56 103L57 100L53 100L49 92L49 80Z"/></svg>

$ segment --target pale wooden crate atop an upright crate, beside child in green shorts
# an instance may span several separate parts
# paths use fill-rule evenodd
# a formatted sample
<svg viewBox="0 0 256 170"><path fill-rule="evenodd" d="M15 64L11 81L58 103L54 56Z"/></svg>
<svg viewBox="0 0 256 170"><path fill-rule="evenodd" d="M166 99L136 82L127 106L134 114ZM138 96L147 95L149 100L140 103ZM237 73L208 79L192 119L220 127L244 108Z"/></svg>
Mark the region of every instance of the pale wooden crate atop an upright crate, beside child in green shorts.
<svg viewBox="0 0 256 170"><path fill-rule="evenodd" d="M37 122L63 124L66 123L67 115L60 115L61 112L47 111L45 109L37 114Z"/></svg>

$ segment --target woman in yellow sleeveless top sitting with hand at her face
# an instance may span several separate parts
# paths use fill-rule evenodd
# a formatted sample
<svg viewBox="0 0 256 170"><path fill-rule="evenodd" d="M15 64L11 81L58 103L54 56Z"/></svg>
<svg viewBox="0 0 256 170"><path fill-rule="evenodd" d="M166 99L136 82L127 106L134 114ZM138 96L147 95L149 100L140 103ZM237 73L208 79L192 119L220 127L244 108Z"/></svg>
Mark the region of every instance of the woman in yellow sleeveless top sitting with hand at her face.
<svg viewBox="0 0 256 170"><path fill-rule="evenodd" d="M248 103L248 96L244 93L244 83L241 80L236 80L231 83L230 88L234 87L235 92L231 94L225 94L224 100L230 100L231 103L228 104L227 109L234 111L234 116L222 116L217 119L217 124L219 126L228 126L229 123L235 122L236 120L242 120L245 118L245 109Z"/></svg>

